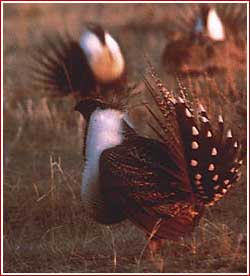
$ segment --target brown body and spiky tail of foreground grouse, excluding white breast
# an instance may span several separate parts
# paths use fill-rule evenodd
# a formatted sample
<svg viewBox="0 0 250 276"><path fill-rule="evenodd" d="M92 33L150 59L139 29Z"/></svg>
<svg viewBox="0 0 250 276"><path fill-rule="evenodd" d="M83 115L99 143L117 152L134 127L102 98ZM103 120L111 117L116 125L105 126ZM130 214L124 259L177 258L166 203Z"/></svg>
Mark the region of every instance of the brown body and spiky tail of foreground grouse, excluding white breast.
<svg viewBox="0 0 250 276"><path fill-rule="evenodd" d="M182 91L168 91L154 72L145 83L158 107L146 105L160 127L152 125L159 140L123 122L123 142L105 149L99 161L102 200L115 208L116 220L99 222L129 218L154 239L177 239L238 181L241 147L221 115L211 121L201 104L191 107Z"/></svg>

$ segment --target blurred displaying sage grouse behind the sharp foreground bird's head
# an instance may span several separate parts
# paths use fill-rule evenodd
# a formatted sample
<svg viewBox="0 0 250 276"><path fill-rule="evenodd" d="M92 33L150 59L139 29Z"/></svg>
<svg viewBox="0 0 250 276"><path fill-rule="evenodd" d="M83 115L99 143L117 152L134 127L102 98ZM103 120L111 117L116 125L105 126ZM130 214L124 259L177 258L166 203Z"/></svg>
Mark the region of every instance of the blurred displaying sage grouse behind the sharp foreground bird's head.
<svg viewBox="0 0 250 276"><path fill-rule="evenodd" d="M126 85L125 60L115 39L100 25L88 25L79 41L59 33L33 54L34 84L50 94L77 100L105 96Z"/></svg>

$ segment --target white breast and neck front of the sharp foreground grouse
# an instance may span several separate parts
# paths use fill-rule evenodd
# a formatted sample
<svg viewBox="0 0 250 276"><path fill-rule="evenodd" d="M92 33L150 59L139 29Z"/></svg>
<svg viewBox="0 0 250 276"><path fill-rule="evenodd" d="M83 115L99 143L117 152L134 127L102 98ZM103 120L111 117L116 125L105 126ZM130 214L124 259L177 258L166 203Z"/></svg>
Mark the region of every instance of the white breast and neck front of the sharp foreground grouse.
<svg viewBox="0 0 250 276"><path fill-rule="evenodd" d="M96 205L103 207L99 192L99 159L105 149L122 143L123 117L124 114L118 110L99 108L90 117L82 180L82 199L88 208L96 208Z"/></svg>

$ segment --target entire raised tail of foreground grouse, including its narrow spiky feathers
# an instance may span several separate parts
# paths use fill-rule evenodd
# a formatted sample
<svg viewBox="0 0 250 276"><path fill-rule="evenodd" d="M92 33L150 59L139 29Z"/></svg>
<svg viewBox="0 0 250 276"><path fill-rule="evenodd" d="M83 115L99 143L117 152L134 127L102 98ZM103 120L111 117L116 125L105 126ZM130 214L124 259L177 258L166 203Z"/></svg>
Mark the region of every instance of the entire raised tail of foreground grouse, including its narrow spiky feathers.
<svg viewBox="0 0 250 276"><path fill-rule="evenodd" d="M151 82L145 82L163 119L153 109L147 109L161 128L158 136L173 162L183 168L180 173L188 175L187 183L191 183L195 196L203 204L213 205L240 178L240 142L225 128L222 115L210 120L202 104L190 107L184 97L168 91L154 72L151 78ZM183 91L179 94L184 95Z"/></svg>

